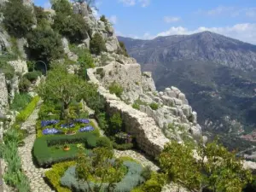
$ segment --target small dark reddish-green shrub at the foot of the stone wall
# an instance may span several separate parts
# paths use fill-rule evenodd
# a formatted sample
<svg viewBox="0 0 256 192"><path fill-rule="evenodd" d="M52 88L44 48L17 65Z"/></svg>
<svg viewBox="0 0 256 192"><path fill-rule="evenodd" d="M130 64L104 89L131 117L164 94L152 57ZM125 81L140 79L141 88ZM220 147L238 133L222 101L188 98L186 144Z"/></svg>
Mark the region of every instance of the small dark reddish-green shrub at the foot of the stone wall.
<svg viewBox="0 0 256 192"><path fill-rule="evenodd" d="M121 118L121 114L113 113L113 115L109 119L108 134L114 135L122 131L122 127L123 127L123 120Z"/></svg>

